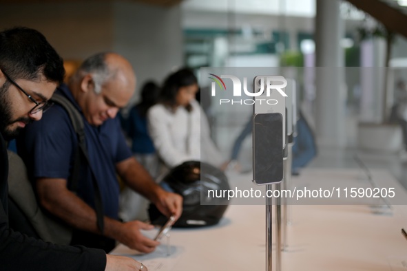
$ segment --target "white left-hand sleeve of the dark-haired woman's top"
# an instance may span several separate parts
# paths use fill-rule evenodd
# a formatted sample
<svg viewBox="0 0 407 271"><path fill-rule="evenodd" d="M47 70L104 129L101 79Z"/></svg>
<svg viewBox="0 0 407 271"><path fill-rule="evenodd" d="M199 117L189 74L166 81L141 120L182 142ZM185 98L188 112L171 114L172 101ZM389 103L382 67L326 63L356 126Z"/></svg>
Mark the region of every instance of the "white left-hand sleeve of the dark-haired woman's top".
<svg viewBox="0 0 407 271"><path fill-rule="evenodd" d="M174 134L171 134L171 113L163 105L155 105L147 112L149 134L154 142L158 156L172 168L191 160L189 155L182 153L174 146ZM186 125L186 124L185 124Z"/></svg>

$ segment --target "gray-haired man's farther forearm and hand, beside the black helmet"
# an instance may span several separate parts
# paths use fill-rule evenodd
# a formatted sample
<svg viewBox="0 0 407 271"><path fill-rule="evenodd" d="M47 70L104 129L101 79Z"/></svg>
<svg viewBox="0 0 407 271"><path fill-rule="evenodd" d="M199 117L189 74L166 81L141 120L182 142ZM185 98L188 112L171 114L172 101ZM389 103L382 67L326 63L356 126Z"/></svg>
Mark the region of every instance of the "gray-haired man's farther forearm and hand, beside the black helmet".
<svg viewBox="0 0 407 271"><path fill-rule="evenodd" d="M116 171L130 188L156 204L161 213L167 217L174 215L176 219L180 217L182 197L176 193L169 193L156 184L134 157L116 163Z"/></svg>

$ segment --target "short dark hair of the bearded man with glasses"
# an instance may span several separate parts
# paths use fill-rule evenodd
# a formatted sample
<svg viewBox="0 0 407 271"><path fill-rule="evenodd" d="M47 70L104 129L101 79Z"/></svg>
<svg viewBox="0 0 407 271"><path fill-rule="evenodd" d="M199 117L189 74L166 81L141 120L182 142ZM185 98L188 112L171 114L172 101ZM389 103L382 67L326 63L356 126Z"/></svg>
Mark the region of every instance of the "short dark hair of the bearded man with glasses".
<svg viewBox="0 0 407 271"><path fill-rule="evenodd" d="M45 36L21 27L0 32L0 69L14 80L36 80L43 74L50 82L62 83L65 76L63 60Z"/></svg>

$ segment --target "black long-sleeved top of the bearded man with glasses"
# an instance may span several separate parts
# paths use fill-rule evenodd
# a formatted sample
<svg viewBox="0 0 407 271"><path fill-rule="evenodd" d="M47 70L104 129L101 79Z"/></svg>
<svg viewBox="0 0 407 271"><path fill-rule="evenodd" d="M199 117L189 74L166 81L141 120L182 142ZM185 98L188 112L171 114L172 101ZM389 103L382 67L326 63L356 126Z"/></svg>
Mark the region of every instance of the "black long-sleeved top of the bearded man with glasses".
<svg viewBox="0 0 407 271"><path fill-rule="evenodd" d="M105 270L103 250L54 245L8 228L8 155L1 134L0 141L0 269Z"/></svg>

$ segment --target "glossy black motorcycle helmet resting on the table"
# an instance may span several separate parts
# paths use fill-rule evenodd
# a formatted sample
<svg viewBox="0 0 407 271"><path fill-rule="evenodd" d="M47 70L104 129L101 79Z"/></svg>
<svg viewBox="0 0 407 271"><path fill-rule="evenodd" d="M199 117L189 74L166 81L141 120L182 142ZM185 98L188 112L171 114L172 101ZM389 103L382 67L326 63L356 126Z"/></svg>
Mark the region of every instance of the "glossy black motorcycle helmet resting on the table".
<svg viewBox="0 0 407 271"><path fill-rule="evenodd" d="M182 215L174 227L200 227L218 224L229 202L223 197L208 197L208 190L229 189L223 171L198 161L188 161L171 169L160 183L166 191L183 197ZM200 204L200 199L204 204ZM216 194L215 194L216 195ZM149 206L152 224L163 225L167 217L160 213L154 204Z"/></svg>

